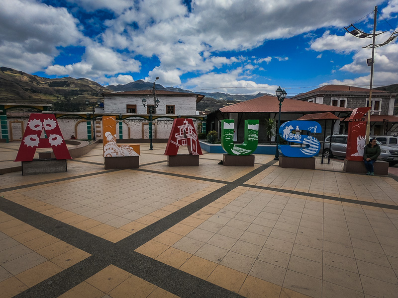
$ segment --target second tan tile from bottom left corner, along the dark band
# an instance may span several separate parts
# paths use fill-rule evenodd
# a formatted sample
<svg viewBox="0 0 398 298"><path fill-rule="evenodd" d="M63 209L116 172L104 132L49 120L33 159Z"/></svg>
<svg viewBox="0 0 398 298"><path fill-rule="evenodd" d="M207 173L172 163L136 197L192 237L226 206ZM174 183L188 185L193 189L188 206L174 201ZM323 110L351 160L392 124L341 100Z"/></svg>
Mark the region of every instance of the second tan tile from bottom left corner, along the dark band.
<svg viewBox="0 0 398 298"><path fill-rule="evenodd" d="M63 269L58 265L47 261L33 268L25 270L15 277L28 287L33 287L34 285L41 283L49 277L61 272L62 270Z"/></svg>

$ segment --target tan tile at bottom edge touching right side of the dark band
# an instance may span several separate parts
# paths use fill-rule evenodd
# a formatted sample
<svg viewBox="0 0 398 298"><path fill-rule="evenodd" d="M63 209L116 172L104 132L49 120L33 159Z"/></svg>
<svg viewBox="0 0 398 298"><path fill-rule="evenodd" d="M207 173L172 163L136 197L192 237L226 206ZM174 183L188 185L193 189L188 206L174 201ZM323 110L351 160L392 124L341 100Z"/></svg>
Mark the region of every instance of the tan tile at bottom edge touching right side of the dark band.
<svg viewBox="0 0 398 298"><path fill-rule="evenodd" d="M239 295L247 298L278 298L280 292L280 286L249 275L240 288Z"/></svg>

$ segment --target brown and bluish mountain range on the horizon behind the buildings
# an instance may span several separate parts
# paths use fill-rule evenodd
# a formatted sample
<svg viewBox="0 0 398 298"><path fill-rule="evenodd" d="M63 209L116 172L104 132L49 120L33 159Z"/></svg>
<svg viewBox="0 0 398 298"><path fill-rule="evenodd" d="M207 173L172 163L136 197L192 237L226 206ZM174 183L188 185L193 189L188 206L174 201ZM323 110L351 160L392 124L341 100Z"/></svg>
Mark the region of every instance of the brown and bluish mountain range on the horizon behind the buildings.
<svg viewBox="0 0 398 298"><path fill-rule="evenodd" d="M164 87L161 84L155 84L155 86L157 90L193 93L190 90ZM84 111L87 109L84 103L85 100L97 101L98 99L102 99L101 94L103 92L150 90L152 87L153 83L143 80L136 80L124 85L108 85L105 87L87 78L46 78L26 74L7 67L0 67L1 103L52 104L52 110L54 111ZM378 87L376 89L398 93L398 84ZM270 95L268 93L231 95L221 92L200 92L200 94L205 97L198 103L197 110L205 113L240 101Z"/></svg>

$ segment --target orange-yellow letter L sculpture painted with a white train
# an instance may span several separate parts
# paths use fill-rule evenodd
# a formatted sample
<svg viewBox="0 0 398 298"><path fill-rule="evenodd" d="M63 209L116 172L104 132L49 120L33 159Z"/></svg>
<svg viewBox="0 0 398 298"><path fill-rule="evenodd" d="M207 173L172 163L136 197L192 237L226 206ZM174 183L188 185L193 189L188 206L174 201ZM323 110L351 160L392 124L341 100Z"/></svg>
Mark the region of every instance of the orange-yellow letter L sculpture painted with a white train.
<svg viewBox="0 0 398 298"><path fill-rule="evenodd" d="M115 116L102 116L103 157L138 156L139 145L117 145Z"/></svg>

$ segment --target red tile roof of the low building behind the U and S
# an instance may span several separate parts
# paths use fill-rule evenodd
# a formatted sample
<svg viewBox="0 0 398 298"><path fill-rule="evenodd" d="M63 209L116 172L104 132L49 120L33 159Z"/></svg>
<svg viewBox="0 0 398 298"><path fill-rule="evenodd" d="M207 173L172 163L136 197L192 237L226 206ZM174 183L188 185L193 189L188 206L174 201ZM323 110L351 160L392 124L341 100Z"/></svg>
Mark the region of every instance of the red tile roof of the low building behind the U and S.
<svg viewBox="0 0 398 298"><path fill-rule="evenodd" d="M278 113L279 101L276 96L264 95L220 108L220 111L222 113ZM285 98L281 112L352 112L352 109Z"/></svg>

